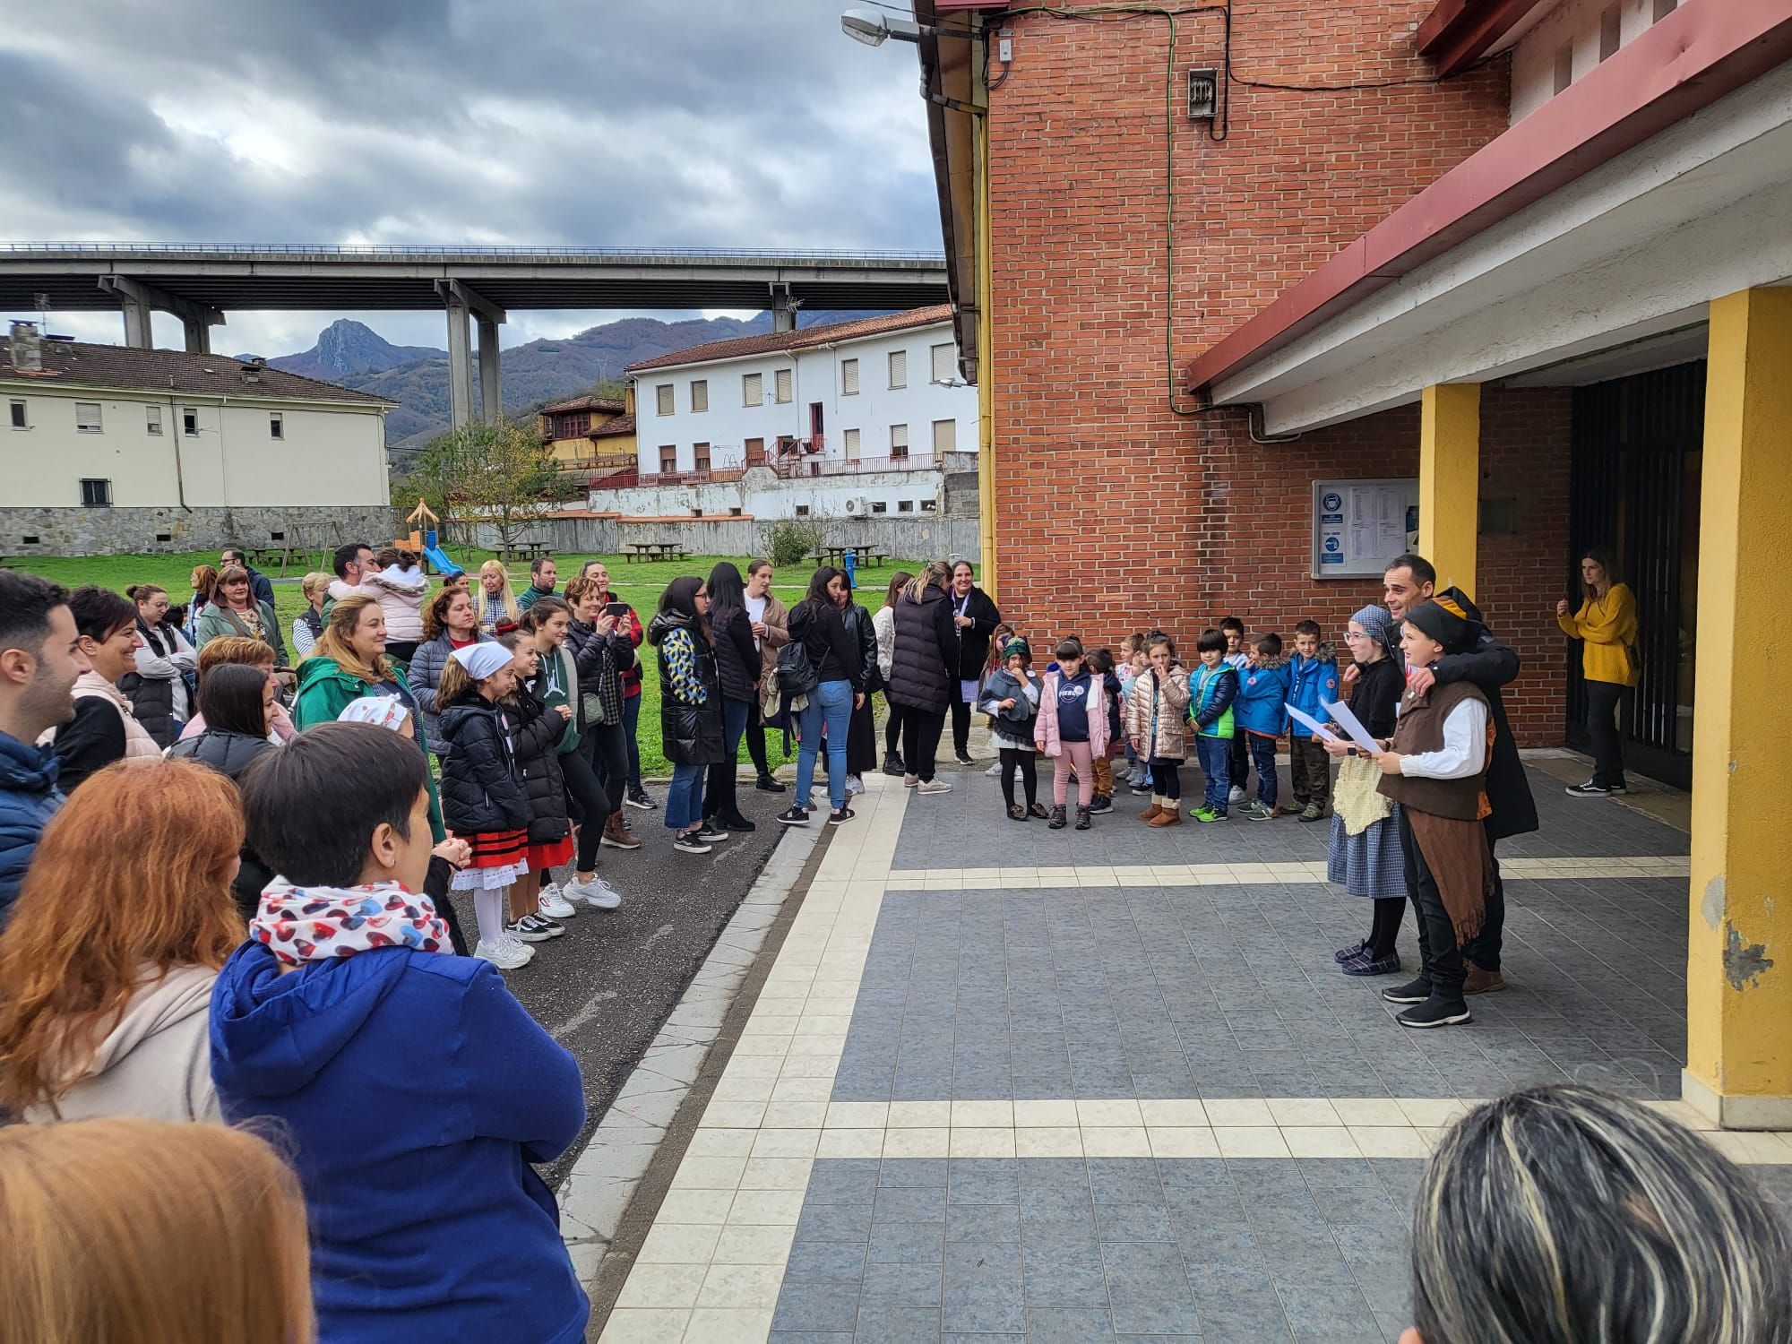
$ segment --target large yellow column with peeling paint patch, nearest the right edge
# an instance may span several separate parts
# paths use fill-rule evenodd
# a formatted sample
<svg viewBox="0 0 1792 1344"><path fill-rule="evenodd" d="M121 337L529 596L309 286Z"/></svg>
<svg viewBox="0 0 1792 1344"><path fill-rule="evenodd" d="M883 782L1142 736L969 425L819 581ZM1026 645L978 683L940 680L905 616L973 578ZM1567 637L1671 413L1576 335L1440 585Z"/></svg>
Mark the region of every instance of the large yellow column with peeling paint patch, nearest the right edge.
<svg viewBox="0 0 1792 1344"><path fill-rule="evenodd" d="M1792 289L1713 301L1708 360L1683 1095L1792 1129Z"/></svg>

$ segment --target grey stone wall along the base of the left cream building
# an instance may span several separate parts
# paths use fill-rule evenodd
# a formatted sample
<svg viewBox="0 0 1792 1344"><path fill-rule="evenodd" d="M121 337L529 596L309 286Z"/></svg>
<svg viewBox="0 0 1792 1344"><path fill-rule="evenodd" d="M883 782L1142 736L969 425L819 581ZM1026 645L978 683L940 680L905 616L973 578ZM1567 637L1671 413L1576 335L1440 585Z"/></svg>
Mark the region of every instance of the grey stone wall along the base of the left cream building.
<svg viewBox="0 0 1792 1344"><path fill-rule="evenodd" d="M140 556L290 543L328 550L348 539L409 534L391 507L299 509L0 509L0 556Z"/></svg>

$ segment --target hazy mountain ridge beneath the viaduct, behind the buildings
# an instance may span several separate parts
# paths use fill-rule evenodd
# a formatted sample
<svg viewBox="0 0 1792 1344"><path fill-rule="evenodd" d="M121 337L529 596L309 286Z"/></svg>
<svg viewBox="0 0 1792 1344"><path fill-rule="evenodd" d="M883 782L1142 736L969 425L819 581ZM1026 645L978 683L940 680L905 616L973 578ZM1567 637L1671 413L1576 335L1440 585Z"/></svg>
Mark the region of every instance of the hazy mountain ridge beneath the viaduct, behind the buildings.
<svg viewBox="0 0 1792 1344"><path fill-rule="evenodd" d="M867 315L801 312L797 321L801 326L821 326ZM622 371L638 360L771 330L769 312L747 321L710 317L663 323L658 317L624 317L579 335L530 340L500 355L504 409L516 414L543 401L575 396L606 378L622 378ZM385 444L396 459L410 457L448 428L448 353L443 349L394 346L373 328L344 317L319 332L317 344L305 353L280 355L269 364L398 401L385 416ZM478 405L477 366L473 382L473 403Z"/></svg>

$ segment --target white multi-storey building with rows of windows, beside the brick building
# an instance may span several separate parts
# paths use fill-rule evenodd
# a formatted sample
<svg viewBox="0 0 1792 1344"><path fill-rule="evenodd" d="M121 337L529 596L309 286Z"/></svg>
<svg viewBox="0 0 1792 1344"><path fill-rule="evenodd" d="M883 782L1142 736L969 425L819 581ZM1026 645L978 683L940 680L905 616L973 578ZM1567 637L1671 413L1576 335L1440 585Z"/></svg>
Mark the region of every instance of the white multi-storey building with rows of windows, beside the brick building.
<svg viewBox="0 0 1792 1344"><path fill-rule="evenodd" d="M767 466L792 482L864 475L874 507L901 487L873 487L871 475L937 471L948 453L977 452L977 389L959 376L946 305L717 340L629 375L642 486Z"/></svg>

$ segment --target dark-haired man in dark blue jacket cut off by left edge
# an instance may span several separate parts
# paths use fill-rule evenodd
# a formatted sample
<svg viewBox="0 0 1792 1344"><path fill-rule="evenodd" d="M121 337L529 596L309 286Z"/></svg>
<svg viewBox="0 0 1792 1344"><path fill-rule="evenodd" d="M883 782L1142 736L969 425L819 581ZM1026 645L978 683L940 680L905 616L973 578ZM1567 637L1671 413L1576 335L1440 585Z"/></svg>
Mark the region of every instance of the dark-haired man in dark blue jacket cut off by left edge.
<svg viewBox="0 0 1792 1344"><path fill-rule="evenodd" d="M68 591L0 570L0 928L63 803L56 753L34 744L75 717L75 677L86 670Z"/></svg>

